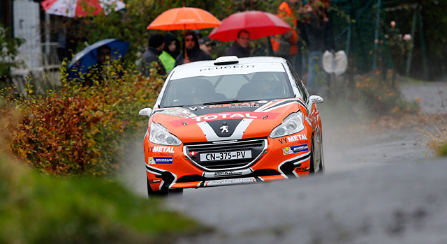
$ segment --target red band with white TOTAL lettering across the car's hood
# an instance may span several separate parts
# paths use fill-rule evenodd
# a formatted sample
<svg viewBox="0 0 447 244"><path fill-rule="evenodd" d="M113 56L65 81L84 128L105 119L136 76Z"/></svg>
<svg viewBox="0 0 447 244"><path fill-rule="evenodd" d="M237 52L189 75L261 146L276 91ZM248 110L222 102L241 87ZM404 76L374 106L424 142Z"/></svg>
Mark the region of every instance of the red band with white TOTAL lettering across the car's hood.
<svg viewBox="0 0 447 244"><path fill-rule="evenodd" d="M275 119L278 115L279 113L270 112L228 112L179 119L177 121L170 121L170 124L174 125L175 127L179 127L184 125L185 123L193 124L206 121L217 121L221 119Z"/></svg>

